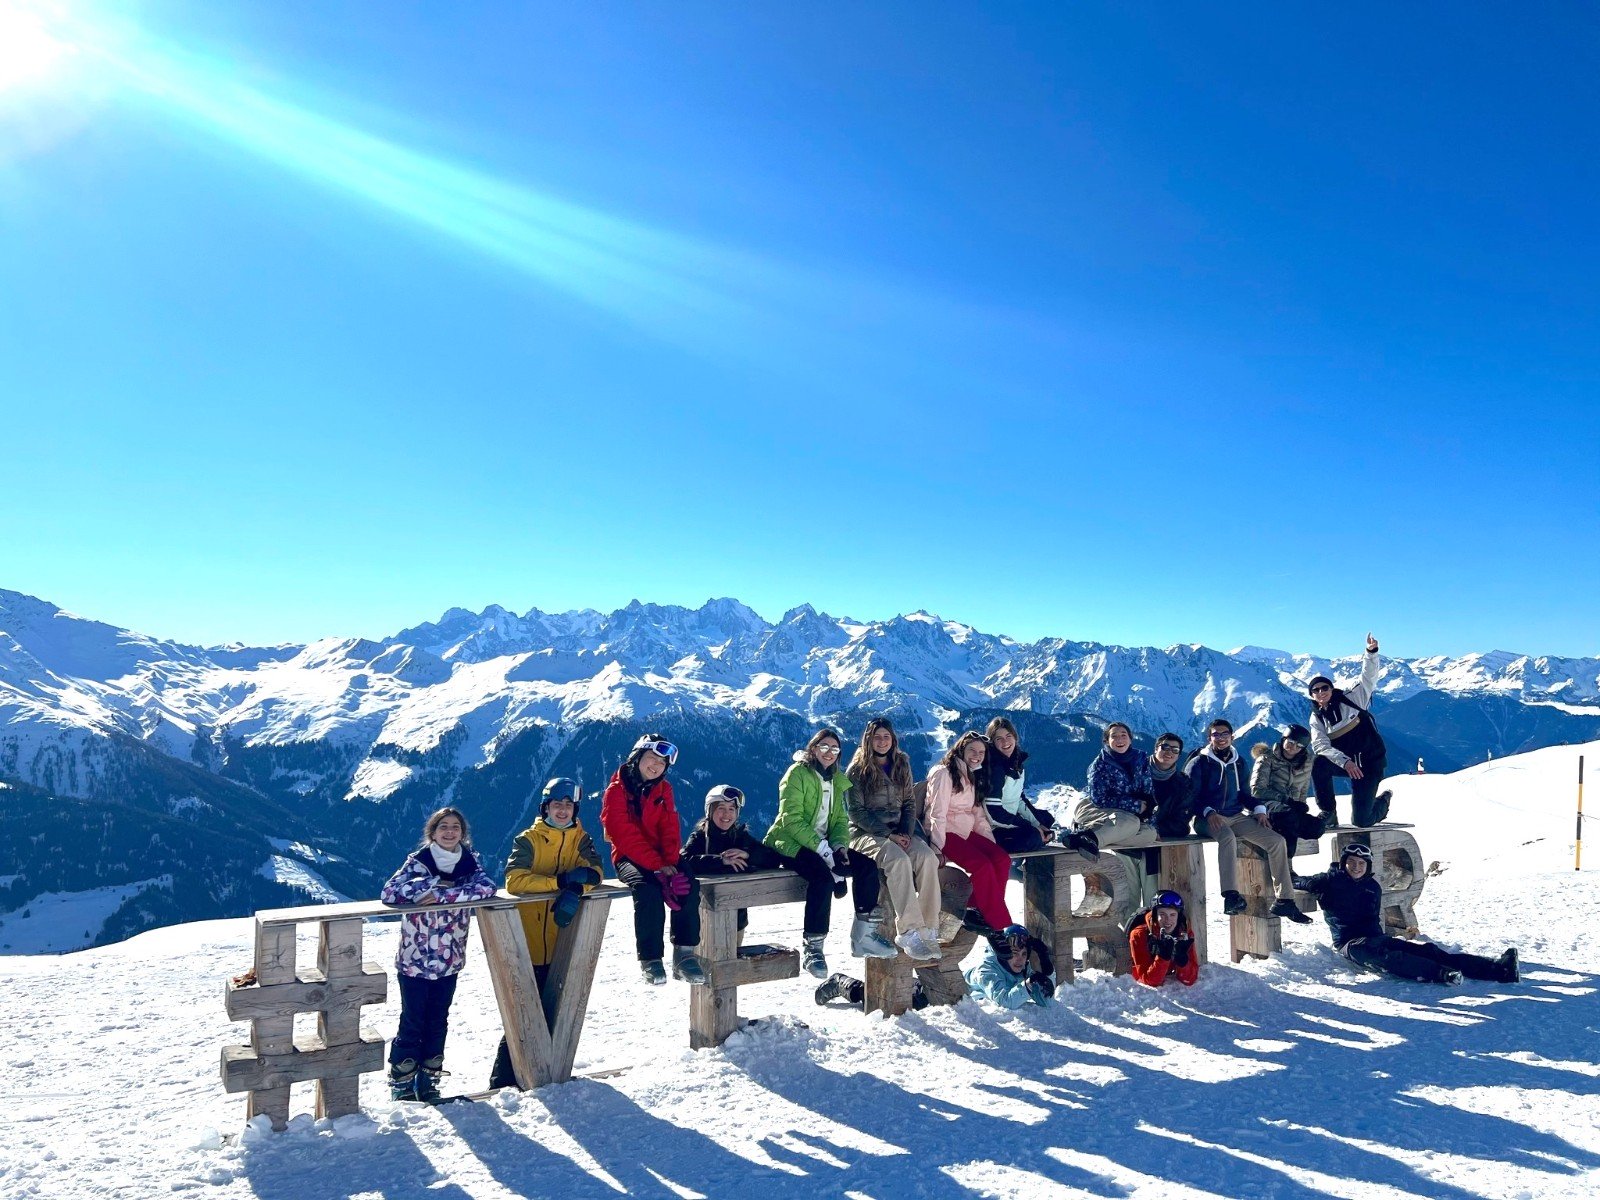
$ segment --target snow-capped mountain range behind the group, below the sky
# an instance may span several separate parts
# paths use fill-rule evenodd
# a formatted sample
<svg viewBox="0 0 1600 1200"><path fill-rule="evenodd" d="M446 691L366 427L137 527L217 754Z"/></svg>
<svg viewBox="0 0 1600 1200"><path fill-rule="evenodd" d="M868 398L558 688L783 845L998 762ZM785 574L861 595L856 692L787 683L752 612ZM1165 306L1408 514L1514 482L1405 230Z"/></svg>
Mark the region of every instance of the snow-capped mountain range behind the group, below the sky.
<svg viewBox="0 0 1600 1200"><path fill-rule="evenodd" d="M731 598L614 613L454 608L379 638L190 646L0 590L0 781L320 846L354 874L330 882L326 859L302 856L296 870L262 878L294 886L274 872L302 883L309 874L338 891L384 874L421 814L450 800L470 806L478 845L498 853L538 781L558 771L597 789L646 728L683 746L688 819L699 792L725 779L757 797L755 824L818 722L850 739L867 714L890 712L926 765L955 731L1010 710L1034 754L1030 774L1064 781L1082 774L1109 720L1192 741L1227 715L1250 742L1304 720L1312 675L1357 669L1354 654L1259 646L1016 642L928 613L858 621L802 605L771 622ZM1451 770L1582 741L1600 736L1600 659L1386 658L1376 709L1397 770L1413 757ZM37 894L48 872L27 854L6 858L11 901ZM142 869L141 878L162 875Z"/></svg>

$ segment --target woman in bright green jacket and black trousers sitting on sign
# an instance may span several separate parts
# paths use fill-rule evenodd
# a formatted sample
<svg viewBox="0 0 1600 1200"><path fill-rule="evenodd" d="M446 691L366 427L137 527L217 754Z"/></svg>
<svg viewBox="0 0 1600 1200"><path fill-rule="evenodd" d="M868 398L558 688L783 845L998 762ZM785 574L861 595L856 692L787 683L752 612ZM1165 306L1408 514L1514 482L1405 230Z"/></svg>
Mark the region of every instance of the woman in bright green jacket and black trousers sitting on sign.
<svg viewBox="0 0 1600 1200"><path fill-rule="evenodd" d="M802 962L818 979L827 979L827 941L834 896L843 896L850 872L850 776L840 770L843 742L832 730L818 730L778 784L778 816L766 830L768 846L805 883Z"/></svg>

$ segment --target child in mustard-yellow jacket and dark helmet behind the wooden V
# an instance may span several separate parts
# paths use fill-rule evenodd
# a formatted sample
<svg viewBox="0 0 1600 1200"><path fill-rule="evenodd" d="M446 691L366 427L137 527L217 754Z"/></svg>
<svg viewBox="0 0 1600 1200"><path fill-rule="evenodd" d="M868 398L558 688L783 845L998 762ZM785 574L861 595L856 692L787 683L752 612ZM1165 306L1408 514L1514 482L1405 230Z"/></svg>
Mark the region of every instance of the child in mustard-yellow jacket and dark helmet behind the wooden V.
<svg viewBox="0 0 1600 1200"><path fill-rule="evenodd" d="M581 789L571 779L550 779L539 800L539 819L517 834L506 859L506 891L515 896L558 893L552 901L523 904L517 910L541 989L555 958L555 938L578 915L584 893L600 882L600 854L578 819L581 798ZM506 1038L501 1038L499 1054L494 1056L490 1086L517 1086Z"/></svg>

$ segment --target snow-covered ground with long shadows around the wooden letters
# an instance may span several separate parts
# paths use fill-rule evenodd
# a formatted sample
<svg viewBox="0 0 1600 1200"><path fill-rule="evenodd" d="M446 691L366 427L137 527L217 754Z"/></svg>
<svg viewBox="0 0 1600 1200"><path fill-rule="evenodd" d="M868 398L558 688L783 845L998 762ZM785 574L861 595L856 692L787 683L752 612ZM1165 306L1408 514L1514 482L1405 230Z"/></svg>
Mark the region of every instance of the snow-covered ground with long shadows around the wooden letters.
<svg viewBox="0 0 1600 1200"><path fill-rule="evenodd" d="M1518 986L1362 974L1318 918L1187 990L1085 973L1018 1014L885 1019L818 1008L808 979L766 984L741 1008L770 1019L694 1053L686 989L634 981L618 902L579 1070L621 1074L442 1109L390 1104L370 1075L365 1114L334 1123L304 1085L288 1131L237 1138L218 1056L246 1034L221 979L250 965L250 922L5 957L0 1195L1600 1195L1600 835L1574 872L1579 752L1600 765L1590 744L1394 781L1395 819L1440 867L1424 934L1518 944ZM754 939L797 942L797 906L752 918ZM394 934L368 926L368 957ZM830 962L854 966L842 934ZM1221 918L1211 944L1226 958ZM499 1029L477 946L453 1019L450 1085L478 1090ZM363 1024L392 1034L395 1005Z"/></svg>

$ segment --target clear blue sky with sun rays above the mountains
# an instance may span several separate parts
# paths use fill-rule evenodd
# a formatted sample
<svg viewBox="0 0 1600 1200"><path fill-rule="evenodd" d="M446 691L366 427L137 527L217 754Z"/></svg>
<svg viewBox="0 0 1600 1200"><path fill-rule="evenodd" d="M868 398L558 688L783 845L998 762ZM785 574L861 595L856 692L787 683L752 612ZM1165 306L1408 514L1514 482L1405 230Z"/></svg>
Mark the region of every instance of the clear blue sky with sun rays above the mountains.
<svg viewBox="0 0 1600 1200"><path fill-rule="evenodd" d="M0 50L0 587L1600 653L1592 10L75 13Z"/></svg>

